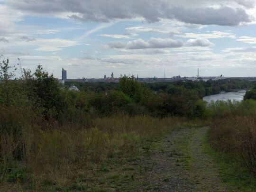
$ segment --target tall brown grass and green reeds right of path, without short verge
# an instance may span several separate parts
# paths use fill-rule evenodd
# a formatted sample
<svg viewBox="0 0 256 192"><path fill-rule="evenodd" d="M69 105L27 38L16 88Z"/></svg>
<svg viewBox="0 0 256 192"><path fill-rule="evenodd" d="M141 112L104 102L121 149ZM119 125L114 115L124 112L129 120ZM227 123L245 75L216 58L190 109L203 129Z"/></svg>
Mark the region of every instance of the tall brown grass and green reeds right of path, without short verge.
<svg viewBox="0 0 256 192"><path fill-rule="evenodd" d="M256 101L211 104L210 144L256 176Z"/></svg>

